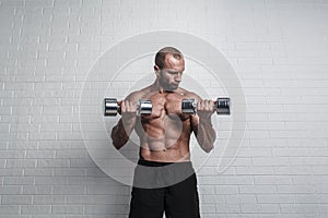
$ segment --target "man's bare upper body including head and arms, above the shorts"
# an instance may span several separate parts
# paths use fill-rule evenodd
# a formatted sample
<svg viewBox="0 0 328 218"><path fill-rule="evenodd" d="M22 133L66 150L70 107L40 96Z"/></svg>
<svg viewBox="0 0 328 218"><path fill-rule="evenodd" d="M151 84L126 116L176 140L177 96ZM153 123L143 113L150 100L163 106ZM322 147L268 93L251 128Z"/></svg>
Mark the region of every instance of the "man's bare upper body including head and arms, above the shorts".
<svg viewBox="0 0 328 218"><path fill-rule="evenodd" d="M157 53L159 55L159 53ZM121 118L113 128L113 145L120 149L134 130L140 138L140 158L144 160L178 162L190 160L189 142L194 132L200 147L210 153L215 141L211 123L214 112L212 100L179 87L185 60L179 52L163 51L155 58L153 84L133 92L120 104ZM181 100L195 98L197 114L183 114ZM139 99L152 101L152 113L136 117Z"/></svg>

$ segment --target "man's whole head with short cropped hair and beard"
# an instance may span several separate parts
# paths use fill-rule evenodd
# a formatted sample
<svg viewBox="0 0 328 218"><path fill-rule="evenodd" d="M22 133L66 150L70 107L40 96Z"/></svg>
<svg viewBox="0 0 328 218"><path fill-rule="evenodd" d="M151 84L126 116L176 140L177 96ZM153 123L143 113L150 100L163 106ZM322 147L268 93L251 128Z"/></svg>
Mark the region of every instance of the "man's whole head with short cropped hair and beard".
<svg viewBox="0 0 328 218"><path fill-rule="evenodd" d="M175 90L185 71L183 53L173 47L162 48L155 56L154 70L159 85L164 90Z"/></svg>

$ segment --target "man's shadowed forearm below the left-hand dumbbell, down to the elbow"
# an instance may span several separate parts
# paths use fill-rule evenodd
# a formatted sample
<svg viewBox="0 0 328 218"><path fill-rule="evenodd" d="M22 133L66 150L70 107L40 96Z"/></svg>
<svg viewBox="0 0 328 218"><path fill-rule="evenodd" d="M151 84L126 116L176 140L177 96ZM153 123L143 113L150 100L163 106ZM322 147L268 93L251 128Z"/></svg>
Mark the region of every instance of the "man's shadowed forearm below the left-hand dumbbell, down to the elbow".
<svg viewBox="0 0 328 218"><path fill-rule="evenodd" d="M112 130L112 140L113 140L113 145L116 147L116 149L121 148L130 137L130 134L133 131L133 126L129 123L124 123L122 119L120 119Z"/></svg>

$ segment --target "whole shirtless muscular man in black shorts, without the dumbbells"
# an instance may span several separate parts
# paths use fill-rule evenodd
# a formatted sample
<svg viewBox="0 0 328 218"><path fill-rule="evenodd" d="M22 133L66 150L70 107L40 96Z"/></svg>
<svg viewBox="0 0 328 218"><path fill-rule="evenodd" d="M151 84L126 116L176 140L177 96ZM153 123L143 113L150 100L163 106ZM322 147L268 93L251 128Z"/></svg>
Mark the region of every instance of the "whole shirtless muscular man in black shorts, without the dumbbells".
<svg viewBox="0 0 328 218"><path fill-rule="evenodd" d="M167 178L178 178L186 171L190 174L176 184L161 187L140 187L133 185L130 205L130 218L197 218L199 202L197 180L190 162L189 141L194 132L201 148L209 153L213 148L215 132L212 128L211 116L214 102L203 100L197 94L179 87L185 70L185 59L180 51L173 47L161 49L155 56L153 84L131 93L121 101L121 119L112 130L114 146L119 149L136 130L140 138L139 166L161 168L176 166L159 175L154 173L134 172L134 184L147 181L149 184L161 183ZM181 112L181 100L195 98L197 114ZM152 101L152 113L137 114L138 99ZM155 177L155 178L153 178ZM138 183L139 182L139 183ZM166 184L165 183L165 184ZM164 183L163 183L164 184Z"/></svg>

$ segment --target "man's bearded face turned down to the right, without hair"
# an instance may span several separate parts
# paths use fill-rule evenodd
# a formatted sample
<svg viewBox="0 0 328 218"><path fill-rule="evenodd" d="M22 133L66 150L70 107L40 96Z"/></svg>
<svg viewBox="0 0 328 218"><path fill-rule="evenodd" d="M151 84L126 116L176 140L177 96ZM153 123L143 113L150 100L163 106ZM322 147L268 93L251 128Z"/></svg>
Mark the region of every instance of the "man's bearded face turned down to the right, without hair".
<svg viewBox="0 0 328 218"><path fill-rule="evenodd" d="M179 87L183 72L185 71L185 60L175 59L172 55L165 57L165 64L163 69L155 65L155 72L161 87L164 90L175 90Z"/></svg>

